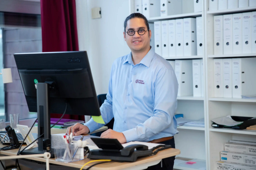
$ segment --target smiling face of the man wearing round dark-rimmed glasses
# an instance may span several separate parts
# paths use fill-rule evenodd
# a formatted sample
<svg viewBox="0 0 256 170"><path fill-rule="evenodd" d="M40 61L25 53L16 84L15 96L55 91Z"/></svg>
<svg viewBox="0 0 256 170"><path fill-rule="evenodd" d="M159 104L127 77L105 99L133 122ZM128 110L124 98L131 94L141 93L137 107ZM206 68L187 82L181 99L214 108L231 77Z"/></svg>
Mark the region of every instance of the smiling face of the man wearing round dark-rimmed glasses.
<svg viewBox="0 0 256 170"><path fill-rule="evenodd" d="M144 29L146 31L145 34L139 35L137 32L139 29ZM150 46L151 30L147 31L147 26L142 18L133 18L127 21L125 30L126 33L123 33L123 38L131 51L143 51ZM133 32L131 30L136 31L132 36L127 34L127 31Z"/></svg>

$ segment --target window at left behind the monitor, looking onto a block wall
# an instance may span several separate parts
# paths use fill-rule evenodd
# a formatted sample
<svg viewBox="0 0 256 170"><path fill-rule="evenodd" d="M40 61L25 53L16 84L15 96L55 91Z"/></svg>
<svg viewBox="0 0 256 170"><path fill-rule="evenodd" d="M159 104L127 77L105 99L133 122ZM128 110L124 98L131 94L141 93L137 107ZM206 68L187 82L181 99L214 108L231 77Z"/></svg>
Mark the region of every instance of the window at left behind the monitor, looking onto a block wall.
<svg viewBox="0 0 256 170"><path fill-rule="evenodd" d="M1 16L4 19L0 23L0 69L11 68L13 82L3 84L0 78L0 118L9 121L9 115L17 113L20 120L36 118L37 113L28 110L13 54L42 52L40 15L0 13Z"/></svg>

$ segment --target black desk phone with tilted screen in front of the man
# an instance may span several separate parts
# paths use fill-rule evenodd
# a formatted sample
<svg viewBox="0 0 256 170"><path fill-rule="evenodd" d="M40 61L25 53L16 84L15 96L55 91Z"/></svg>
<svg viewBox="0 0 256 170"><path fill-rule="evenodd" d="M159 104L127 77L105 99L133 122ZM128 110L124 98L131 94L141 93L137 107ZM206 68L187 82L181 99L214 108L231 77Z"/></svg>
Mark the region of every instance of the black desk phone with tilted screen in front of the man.
<svg viewBox="0 0 256 170"><path fill-rule="evenodd" d="M90 159L107 159L135 162L138 157L149 156L153 154L153 151L149 150L148 146L146 145L133 144L123 148L117 139L103 139L93 137L91 139L101 149L91 150L87 157Z"/></svg>

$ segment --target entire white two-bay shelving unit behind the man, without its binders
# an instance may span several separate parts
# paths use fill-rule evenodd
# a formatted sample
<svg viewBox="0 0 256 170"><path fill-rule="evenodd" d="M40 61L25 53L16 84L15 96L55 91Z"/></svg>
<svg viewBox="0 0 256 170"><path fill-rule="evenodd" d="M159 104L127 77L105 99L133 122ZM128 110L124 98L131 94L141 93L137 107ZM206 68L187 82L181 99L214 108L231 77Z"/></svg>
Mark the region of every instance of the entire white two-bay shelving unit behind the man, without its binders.
<svg viewBox="0 0 256 170"><path fill-rule="evenodd" d="M130 7L134 7L133 3L134 0L130 0ZM148 18L148 21L150 22L150 29L154 31L154 25L152 23L155 21L174 20L188 17L195 18L202 16L204 31L204 55L181 57L176 56L166 59L203 59L203 69L205 75L204 86L206 87L204 93L205 97L177 97L178 108L176 110L176 114L183 114L184 118L194 120L204 117L205 128L179 126L179 133L175 135L175 144L176 148L181 150L181 153L178 155L178 157L205 160L206 169L215 170L215 162L220 160L220 151L224 150L225 143L227 143L229 140L256 141L256 131L247 129L239 130L231 128L214 128L211 126L211 119L227 115L255 117L256 100L214 97L214 58L256 57L256 54L214 55L214 16L256 11L256 7L216 11L208 11L208 7L209 0L204 0L202 3L202 12L187 12L184 14L177 14L166 17L153 17ZM130 8L130 13L133 12L134 10ZM152 41L154 42L154 37L152 37ZM194 170L176 165L174 166L174 169Z"/></svg>

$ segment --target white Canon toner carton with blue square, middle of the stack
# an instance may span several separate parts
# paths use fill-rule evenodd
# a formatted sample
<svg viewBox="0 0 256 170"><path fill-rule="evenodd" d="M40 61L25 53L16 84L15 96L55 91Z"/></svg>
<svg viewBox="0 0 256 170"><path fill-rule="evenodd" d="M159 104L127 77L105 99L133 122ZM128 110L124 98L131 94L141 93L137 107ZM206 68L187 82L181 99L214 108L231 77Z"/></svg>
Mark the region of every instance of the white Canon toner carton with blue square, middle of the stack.
<svg viewBox="0 0 256 170"><path fill-rule="evenodd" d="M220 160L227 162L245 163L248 165L256 165L256 155L238 152L220 152Z"/></svg>

